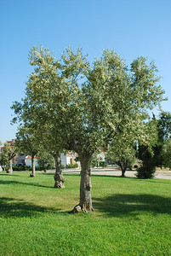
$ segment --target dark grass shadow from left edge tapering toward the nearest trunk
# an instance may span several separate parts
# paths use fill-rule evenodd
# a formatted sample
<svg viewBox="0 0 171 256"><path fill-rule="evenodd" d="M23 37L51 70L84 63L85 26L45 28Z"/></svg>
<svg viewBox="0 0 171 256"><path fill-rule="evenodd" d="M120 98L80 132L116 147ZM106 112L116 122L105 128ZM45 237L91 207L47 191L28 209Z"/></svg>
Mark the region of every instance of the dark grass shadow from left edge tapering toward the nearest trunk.
<svg viewBox="0 0 171 256"><path fill-rule="evenodd" d="M32 218L43 212L59 212L60 210L60 208L37 206L19 199L0 198L0 218Z"/></svg>

